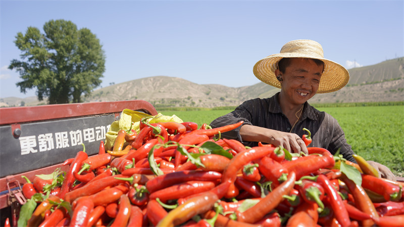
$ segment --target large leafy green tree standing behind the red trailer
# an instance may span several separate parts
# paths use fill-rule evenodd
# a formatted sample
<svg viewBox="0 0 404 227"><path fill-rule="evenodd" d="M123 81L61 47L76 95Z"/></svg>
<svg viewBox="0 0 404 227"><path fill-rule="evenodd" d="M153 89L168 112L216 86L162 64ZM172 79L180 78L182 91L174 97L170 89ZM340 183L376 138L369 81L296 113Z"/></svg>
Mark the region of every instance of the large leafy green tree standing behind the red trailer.
<svg viewBox="0 0 404 227"><path fill-rule="evenodd" d="M102 82L105 54L99 39L87 28L77 29L71 21L51 20L38 28L17 33L14 43L21 50L21 61L12 60L22 79L21 92L36 87L38 100L49 104L81 102Z"/></svg>

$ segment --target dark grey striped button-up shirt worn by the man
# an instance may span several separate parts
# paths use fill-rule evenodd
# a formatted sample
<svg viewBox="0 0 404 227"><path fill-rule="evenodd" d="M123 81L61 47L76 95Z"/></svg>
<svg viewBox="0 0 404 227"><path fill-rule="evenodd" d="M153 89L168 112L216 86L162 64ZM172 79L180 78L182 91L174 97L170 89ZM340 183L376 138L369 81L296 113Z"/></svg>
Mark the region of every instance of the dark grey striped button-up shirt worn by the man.
<svg viewBox="0 0 404 227"><path fill-rule="evenodd" d="M282 132L290 132L292 125L283 114L279 105L279 93L271 98L256 98L243 102L234 111L214 120L210 126L212 128L224 125L235 124L244 121L243 125L254 125ZM222 133L227 139L236 139L243 142L246 146L257 146L258 142L242 141L240 136L241 127ZM304 104L303 112L299 121L296 123L291 133L297 134L300 138L307 134L303 130L310 130L313 142L309 147L322 147L335 154L340 149L340 154L349 161L356 162L352 157L354 152L349 144L346 143L345 134L339 126L336 119L326 112L319 111L308 102Z"/></svg>

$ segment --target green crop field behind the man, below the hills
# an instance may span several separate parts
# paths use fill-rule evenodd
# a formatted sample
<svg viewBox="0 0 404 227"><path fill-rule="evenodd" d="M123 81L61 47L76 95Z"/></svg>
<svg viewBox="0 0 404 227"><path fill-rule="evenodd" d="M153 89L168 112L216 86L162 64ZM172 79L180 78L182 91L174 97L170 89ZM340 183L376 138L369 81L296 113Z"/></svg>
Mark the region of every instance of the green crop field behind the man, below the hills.
<svg viewBox="0 0 404 227"><path fill-rule="evenodd" d="M404 106L318 107L330 113L345 132L355 153L367 160L386 165L400 177L404 176ZM231 110L162 111L176 115L184 122L201 126Z"/></svg>

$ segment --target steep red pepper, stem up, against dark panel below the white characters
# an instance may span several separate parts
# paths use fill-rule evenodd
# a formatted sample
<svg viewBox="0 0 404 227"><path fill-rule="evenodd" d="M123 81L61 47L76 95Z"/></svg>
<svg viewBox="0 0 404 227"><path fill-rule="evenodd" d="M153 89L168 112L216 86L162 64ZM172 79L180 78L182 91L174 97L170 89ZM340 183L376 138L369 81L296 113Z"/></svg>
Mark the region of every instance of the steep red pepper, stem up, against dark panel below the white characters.
<svg viewBox="0 0 404 227"><path fill-rule="evenodd" d="M66 173L66 176L62 183L62 188L59 193L60 198L64 198L66 193L71 190L74 183L74 172L79 172L81 163L87 159L87 153L85 152L85 147L83 144L83 150L77 152L76 157L74 158L72 164L70 164L69 170Z"/></svg>

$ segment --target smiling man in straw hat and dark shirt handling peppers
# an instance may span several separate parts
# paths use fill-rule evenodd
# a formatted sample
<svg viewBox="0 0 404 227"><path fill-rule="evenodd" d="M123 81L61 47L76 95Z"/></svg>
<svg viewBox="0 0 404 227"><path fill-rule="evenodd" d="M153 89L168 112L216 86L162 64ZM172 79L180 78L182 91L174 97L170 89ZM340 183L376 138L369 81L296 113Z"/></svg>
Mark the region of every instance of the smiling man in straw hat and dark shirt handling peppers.
<svg viewBox="0 0 404 227"><path fill-rule="evenodd" d="M294 153L308 153L301 136L310 130L312 147L322 147L335 154L337 150L355 162L354 152L346 143L338 122L307 102L316 93L341 89L349 80L348 71L341 65L324 59L322 46L313 40L294 40L286 43L280 53L272 54L256 63L255 76L281 91L271 98L256 98L243 102L234 111L211 123L217 128L244 121L239 128L223 133L223 137L242 141L246 146L258 142L283 146ZM381 177L395 180L390 169L369 161Z"/></svg>

